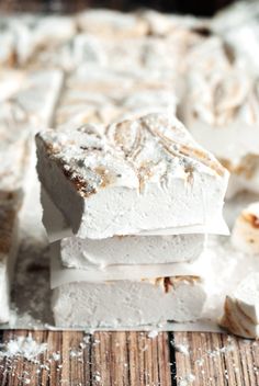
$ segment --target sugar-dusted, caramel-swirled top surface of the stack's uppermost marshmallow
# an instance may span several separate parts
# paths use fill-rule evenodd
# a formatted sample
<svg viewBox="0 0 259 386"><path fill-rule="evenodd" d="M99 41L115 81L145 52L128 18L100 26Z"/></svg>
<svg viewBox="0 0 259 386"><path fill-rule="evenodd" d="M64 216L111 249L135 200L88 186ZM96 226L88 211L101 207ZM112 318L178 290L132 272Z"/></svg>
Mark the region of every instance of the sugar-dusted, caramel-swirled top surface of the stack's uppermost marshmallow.
<svg viewBox="0 0 259 386"><path fill-rule="evenodd" d="M77 130L46 130L38 135L46 152L75 182L81 195L106 185L145 189L166 184L171 175L191 181L195 172L222 177L216 159L200 148L182 124L166 114Z"/></svg>

